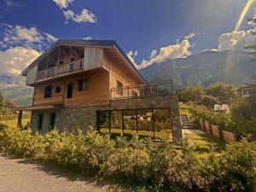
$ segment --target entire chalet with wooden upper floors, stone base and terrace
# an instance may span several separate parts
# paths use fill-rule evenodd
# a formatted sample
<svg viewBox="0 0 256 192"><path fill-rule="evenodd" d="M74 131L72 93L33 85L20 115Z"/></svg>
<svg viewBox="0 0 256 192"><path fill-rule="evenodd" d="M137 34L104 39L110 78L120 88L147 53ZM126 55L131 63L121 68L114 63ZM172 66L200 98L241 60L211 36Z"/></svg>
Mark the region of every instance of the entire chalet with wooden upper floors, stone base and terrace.
<svg viewBox="0 0 256 192"><path fill-rule="evenodd" d="M173 136L174 143L181 137L172 81L147 84L114 41L59 40L22 75L26 76L26 85L35 89L32 106L17 110L32 111L32 131L88 130L91 126L97 129L101 125L101 113L107 111L109 122L113 121L114 125L123 122L117 115L122 113L125 121L121 129L125 133L129 133L126 130L133 125L134 118L137 128L132 129L148 133L151 125L144 125L148 125L146 116L151 113L152 123L155 121L153 137ZM158 115L156 119L158 116L154 114L162 112L166 116ZM112 126L109 122L108 130Z"/></svg>

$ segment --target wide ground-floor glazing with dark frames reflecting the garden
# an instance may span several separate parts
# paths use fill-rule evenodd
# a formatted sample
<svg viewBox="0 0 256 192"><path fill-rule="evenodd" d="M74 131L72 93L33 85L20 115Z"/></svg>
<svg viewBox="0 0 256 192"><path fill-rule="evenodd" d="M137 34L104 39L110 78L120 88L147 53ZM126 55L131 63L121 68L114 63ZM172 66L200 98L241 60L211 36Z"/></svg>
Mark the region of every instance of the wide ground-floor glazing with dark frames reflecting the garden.
<svg viewBox="0 0 256 192"><path fill-rule="evenodd" d="M102 133L172 140L170 108L124 109L97 112L97 127Z"/></svg>

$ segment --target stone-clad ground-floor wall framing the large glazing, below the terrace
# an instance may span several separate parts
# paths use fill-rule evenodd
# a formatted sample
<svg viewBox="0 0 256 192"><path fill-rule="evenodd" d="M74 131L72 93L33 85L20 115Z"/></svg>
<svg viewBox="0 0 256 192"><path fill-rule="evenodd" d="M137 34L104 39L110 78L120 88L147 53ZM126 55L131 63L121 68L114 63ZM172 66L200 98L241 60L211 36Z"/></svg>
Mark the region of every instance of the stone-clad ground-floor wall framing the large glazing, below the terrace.
<svg viewBox="0 0 256 192"><path fill-rule="evenodd" d="M38 127L38 114L44 113L44 124L42 132L49 131L50 113L56 113L55 127L60 131L69 131L78 128L86 131L89 126L96 127L96 112L101 110L117 109L141 109L141 108L171 108L173 142L177 143L182 137L179 121L179 108L177 96L152 96L143 98L132 98L124 100L113 100L108 105L92 106L83 108L61 108L58 110L33 111L31 127L33 131Z"/></svg>

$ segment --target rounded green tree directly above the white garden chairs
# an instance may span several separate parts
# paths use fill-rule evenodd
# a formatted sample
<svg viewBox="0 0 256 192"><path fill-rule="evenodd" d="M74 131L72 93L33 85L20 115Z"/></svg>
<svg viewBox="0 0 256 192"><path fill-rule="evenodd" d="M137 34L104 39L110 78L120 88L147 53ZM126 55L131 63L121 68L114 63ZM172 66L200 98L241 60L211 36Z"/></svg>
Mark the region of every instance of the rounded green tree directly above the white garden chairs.
<svg viewBox="0 0 256 192"><path fill-rule="evenodd" d="M207 89L207 95L214 96L219 102L233 102L237 92L233 85L225 83L211 84Z"/></svg>

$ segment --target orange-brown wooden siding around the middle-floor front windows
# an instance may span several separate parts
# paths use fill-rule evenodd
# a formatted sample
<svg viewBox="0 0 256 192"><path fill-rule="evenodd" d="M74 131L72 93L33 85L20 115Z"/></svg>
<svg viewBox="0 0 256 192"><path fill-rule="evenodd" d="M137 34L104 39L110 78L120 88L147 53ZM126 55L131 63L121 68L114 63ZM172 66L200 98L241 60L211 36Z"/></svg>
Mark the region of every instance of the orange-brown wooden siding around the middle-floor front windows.
<svg viewBox="0 0 256 192"><path fill-rule="evenodd" d="M108 71L97 70L92 73L79 73L48 84L35 87L33 105L63 104L65 107L93 106L108 104ZM79 91L79 79L89 79L89 90ZM67 99L67 84L73 84L73 97ZM44 88L52 85L52 96L44 98ZM61 85L61 93L55 93L55 87Z"/></svg>

